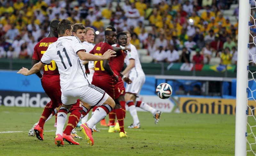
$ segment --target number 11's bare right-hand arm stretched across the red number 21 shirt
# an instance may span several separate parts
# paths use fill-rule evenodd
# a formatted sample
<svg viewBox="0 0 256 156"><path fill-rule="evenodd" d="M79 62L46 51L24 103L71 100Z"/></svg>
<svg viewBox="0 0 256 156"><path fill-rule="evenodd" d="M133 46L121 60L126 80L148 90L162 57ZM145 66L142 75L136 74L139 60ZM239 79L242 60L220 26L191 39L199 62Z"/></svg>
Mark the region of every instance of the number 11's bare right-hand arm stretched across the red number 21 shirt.
<svg viewBox="0 0 256 156"><path fill-rule="evenodd" d="M100 61L100 60L107 60L108 58L115 57L116 51L108 50L102 56L100 55L93 55L90 53L86 53L84 51L78 51L77 56L84 61Z"/></svg>

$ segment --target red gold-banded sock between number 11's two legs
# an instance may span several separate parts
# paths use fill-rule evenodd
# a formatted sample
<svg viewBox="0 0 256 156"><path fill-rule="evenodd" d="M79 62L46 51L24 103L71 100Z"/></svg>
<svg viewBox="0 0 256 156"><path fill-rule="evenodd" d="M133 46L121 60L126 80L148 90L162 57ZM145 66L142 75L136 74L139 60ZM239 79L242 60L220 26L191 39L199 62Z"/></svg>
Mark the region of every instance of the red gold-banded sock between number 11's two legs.
<svg viewBox="0 0 256 156"><path fill-rule="evenodd" d="M64 134L66 135L70 135L70 132L72 131L72 129L74 129L80 119L81 113L77 110L72 111L71 114L68 117L68 124L66 129L64 130Z"/></svg>

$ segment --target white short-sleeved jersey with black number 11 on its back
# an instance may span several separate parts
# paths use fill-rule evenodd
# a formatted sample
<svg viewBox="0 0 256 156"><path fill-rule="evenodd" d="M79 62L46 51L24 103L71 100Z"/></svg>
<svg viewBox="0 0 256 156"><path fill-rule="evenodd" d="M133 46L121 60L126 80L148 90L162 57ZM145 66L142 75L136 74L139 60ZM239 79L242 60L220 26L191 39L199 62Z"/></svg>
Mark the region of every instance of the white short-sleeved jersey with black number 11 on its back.
<svg viewBox="0 0 256 156"><path fill-rule="evenodd" d="M54 60L60 73L61 90L72 90L88 85L78 51L85 52L82 42L76 36L61 36L52 43L41 58L44 64Z"/></svg>

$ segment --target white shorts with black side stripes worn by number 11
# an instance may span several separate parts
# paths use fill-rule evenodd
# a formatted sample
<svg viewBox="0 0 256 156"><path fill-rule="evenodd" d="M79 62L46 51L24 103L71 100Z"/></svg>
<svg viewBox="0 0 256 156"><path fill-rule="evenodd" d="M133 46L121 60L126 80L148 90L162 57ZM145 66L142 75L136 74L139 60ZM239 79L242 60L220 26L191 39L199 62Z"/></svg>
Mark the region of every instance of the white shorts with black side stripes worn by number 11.
<svg viewBox="0 0 256 156"><path fill-rule="evenodd" d="M61 101L64 105L73 105L77 99L80 99L91 106L100 106L108 99L108 94L104 90L92 84L61 93Z"/></svg>

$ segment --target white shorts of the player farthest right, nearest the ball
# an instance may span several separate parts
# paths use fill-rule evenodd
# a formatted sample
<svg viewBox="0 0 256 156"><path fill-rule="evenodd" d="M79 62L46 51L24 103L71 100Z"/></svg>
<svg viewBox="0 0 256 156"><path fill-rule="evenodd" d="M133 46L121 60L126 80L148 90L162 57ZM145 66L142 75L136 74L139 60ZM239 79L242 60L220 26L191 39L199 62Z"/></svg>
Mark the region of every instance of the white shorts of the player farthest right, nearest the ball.
<svg viewBox="0 0 256 156"><path fill-rule="evenodd" d="M125 93L132 93L136 97L139 97L140 90L145 83L145 76L129 77L132 80L131 84L126 84Z"/></svg>

